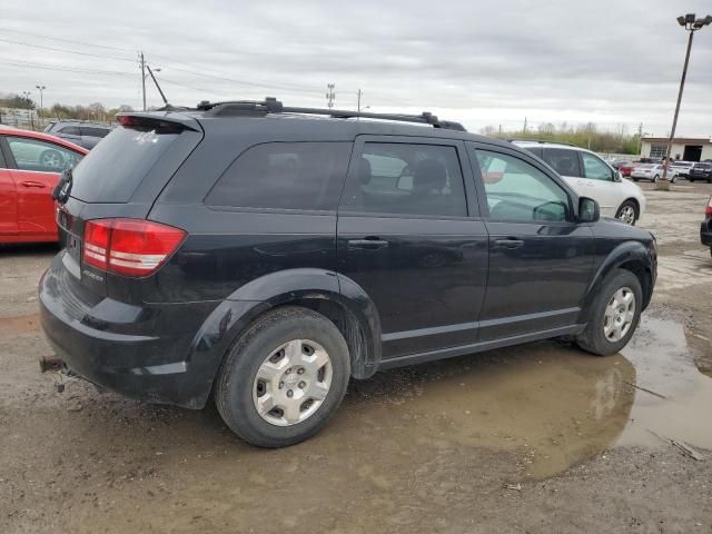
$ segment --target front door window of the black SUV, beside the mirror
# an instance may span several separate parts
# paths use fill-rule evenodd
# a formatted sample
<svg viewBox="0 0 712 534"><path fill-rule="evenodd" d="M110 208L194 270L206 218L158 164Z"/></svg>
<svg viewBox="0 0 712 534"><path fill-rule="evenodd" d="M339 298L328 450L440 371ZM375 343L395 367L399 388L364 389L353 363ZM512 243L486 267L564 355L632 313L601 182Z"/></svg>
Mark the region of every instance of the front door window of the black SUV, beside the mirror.
<svg viewBox="0 0 712 534"><path fill-rule="evenodd" d="M514 222L568 219L568 195L552 178L513 156L474 151L491 219Z"/></svg>

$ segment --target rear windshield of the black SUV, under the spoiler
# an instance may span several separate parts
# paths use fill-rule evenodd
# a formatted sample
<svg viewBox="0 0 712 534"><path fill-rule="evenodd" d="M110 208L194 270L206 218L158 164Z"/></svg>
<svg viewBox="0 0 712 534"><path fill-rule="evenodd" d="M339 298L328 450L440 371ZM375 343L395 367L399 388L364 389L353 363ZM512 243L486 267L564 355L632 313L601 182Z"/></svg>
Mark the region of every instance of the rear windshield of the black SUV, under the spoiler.
<svg viewBox="0 0 712 534"><path fill-rule="evenodd" d="M127 202L178 138L175 130L118 127L73 170L71 196L85 202Z"/></svg>

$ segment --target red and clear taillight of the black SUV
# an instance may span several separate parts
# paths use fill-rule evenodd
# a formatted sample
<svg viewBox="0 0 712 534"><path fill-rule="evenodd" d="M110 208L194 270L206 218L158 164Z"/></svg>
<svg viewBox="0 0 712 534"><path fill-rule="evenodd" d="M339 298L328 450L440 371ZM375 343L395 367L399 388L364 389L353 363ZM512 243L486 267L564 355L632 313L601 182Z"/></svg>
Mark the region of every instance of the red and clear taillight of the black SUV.
<svg viewBox="0 0 712 534"><path fill-rule="evenodd" d="M129 276L156 273L180 246L186 233L141 219L96 219L85 225L83 261Z"/></svg>

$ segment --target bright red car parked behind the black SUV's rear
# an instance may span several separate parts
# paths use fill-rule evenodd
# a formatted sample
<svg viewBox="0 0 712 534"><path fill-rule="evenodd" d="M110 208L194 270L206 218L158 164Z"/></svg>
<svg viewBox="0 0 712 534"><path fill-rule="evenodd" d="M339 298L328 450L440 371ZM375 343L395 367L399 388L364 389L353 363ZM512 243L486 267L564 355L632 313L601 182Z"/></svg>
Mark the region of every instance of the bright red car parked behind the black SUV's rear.
<svg viewBox="0 0 712 534"><path fill-rule="evenodd" d="M0 126L0 244L57 240L52 190L88 152L58 137Z"/></svg>

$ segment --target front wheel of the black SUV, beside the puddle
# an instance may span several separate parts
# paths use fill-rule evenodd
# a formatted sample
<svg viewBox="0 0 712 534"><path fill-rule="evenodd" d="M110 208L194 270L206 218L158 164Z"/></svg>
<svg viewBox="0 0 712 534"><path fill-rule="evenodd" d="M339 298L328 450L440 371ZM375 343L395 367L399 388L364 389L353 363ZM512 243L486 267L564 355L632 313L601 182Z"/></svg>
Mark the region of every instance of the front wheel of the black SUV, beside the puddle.
<svg viewBox="0 0 712 534"><path fill-rule="evenodd" d="M637 277L630 270L615 270L591 304L586 329L576 337L576 344L597 356L616 354L637 328L642 305Z"/></svg>

